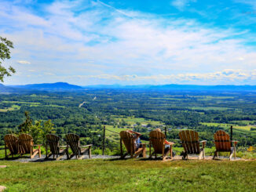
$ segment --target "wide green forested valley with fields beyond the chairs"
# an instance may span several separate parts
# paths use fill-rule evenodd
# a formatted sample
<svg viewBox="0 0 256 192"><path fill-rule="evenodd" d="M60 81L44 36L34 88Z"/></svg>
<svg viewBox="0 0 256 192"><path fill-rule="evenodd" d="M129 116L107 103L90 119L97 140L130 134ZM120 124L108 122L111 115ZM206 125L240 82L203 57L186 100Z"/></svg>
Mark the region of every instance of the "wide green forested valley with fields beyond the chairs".
<svg viewBox="0 0 256 192"><path fill-rule="evenodd" d="M207 147L214 146L218 129L229 132L240 147L256 146L256 92L167 91L154 89L86 89L79 92L36 92L0 95L0 144L9 132L18 132L25 111L33 121L51 120L54 131L68 132L100 149L103 126L108 129L107 147L118 146L118 132L134 129L148 141L148 133L167 130L174 142L181 129L194 129ZM177 142L177 146L178 146Z"/></svg>

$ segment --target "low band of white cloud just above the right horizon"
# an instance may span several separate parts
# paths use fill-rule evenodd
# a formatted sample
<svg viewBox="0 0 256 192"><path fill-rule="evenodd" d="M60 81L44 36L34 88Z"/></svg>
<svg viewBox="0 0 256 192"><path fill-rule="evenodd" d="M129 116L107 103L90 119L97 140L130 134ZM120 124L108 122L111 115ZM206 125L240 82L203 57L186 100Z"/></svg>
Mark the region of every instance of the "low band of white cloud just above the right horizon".
<svg viewBox="0 0 256 192"><path fill-rule="evenodd" d="M218 84L223 84L223 82L237 84L236 82L246 83L251 80L256 80L256 70L254 71L243 71L243 70L224 70L217 71L213 73L185 73L185 74L156 74L149 76L138 76L137 74L133 75L112 75L112 74L99 74L99 75L89 75L82 76L79 75L78 78L81 79L104 79L111 80L112 83L126 82L127 85L135 84L144 84L144 82L150 82L152 84L170 84L170 83L181 83L185 82L186 84L205 84L209 85L216 82ZM207 83L202 83L207 82Z"/></svg>

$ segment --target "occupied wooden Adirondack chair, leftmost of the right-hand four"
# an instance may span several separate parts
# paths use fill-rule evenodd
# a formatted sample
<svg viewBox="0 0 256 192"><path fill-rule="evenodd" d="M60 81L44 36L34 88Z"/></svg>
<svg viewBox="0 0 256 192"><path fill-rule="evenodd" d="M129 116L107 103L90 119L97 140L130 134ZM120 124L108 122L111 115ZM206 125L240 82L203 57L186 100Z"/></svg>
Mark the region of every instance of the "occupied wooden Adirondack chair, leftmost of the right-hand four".
<svg viewBox="0 0 256 192"><path fill-rule="evenodd" d="M141 143L140 148L137 149L136 143L131 132L122 131L120 135L120 149L121 149L121 158L125 158L127 154L130 154L130 158L137 158L142 154L143 158L146 158L146 144ZM126 147L126 153L123 154L123 144Z"/></svg>

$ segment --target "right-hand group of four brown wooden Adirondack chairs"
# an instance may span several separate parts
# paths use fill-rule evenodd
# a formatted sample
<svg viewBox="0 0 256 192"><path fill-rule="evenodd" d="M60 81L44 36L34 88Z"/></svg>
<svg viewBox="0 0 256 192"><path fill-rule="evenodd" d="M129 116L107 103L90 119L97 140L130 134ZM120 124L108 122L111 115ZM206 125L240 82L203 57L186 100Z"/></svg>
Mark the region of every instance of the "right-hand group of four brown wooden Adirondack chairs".
<svg viewBox="0 0 256 192"><path fill-rule="evenodd" d="M134 136L131 132L122 131L119 133L120 135L120 148L121 148L121 158L125 158L126 155L130 154L131 158L136 158L139 155L142 155L144 158L146 157L146 144L141 143L141 147L137 148L135 143ZM179 132L179 136L181 139L182 147L184 151L182 154L182 159L188 159L188 154L199 154L199 159L205 158L204 148L206 147L207 141L199 141L198 132L192 130L182 130ZM159 132L154 130L149 133L149 158L155 155L157 158L157 154L162 154L163 161L166 159L173 159L173 145L174 143L170 143L170 147L166 150L165 144L166 136L163 132ZM218 130L214 134L214 143L216 150L214 151L214 159L218 158L219 152L229 152L229 160L232 159L232 155L234 154L234 158L236 158L236 144L237 141L230 140L229 134L223 130ZM233 147L232 147L233 143ZM123 154L123 144L126 147L126 153ZM200 147L200 144L202 146ZM152 152L152 148L154 149ZM169 156L170 154L170 156Z"/></svg>

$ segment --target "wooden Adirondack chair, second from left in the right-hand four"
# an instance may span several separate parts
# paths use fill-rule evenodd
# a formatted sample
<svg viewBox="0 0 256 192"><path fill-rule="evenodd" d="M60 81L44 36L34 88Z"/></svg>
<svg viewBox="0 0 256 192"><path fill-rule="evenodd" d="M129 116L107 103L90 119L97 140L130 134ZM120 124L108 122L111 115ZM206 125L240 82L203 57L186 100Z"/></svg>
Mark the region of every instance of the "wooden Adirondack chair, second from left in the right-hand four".
<svg viewBox="0 0 256 192"><path fill-rule="evenodd" d="M155 154L155 158L157 158L157 154L162 154L163 161L168 158L168 154L170 153L170 160L173 159L173 148L174 143L170 143L170 148L165 151L165 140L166 135L163 132L159 132L157 130L153 130L149 133L149 158ZM154 152L151 153L151 147L154 148Z"/></svg>

